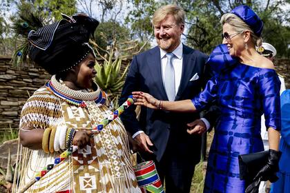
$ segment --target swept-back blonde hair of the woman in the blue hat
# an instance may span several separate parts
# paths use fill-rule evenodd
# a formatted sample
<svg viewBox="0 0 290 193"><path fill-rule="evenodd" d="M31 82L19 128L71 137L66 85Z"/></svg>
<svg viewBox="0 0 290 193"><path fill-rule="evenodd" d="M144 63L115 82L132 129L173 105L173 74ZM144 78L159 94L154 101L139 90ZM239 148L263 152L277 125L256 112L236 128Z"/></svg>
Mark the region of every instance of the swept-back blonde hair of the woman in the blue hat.
<svg viewBox="0 0 290 193"><path fill-rule="evenodd" d="M240 17L237 15L233 13L226 13L222 15L220 23L222 23L222 25L224 25L224 23L228 23L236 32L242 32L245 30L251 32L251 41L253 44L258 47L262 45L262 38L258 37L250 28L250 26L248 26L247 23L244 23L244 21L242 21L242 19L240 19Z"/></svg>

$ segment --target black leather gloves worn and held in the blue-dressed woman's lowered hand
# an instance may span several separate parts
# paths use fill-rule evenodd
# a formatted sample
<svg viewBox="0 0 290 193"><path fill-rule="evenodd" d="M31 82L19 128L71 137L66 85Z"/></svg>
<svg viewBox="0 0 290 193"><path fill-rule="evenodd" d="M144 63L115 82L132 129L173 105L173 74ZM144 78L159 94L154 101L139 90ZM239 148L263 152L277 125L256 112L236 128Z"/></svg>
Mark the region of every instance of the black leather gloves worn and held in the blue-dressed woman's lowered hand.
<svg viewBox="0 0 290 193"><path fill-rule="evenodd" d="M255 193L259 190L259 185L261 181L271 181L271 183L278 181L278 176L276 176L276 172L279 171L279 160L282 152L278 152L276 150L269 150L269 157L267 164L262 167L262 169L258 172L258 174L253 179L253 183L251 183L245 193Z"/></svg>

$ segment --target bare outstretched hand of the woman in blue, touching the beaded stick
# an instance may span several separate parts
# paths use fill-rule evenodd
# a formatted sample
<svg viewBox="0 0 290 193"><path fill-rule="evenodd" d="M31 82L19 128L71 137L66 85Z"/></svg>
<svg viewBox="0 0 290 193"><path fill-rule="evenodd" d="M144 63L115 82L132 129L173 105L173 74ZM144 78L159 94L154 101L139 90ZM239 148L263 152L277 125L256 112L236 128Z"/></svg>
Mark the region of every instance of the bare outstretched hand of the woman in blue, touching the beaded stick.
<svg viewBox="0 0 290 193"><path fill-rule="evenodd" d="M147 108L158 109L161 101L158 101L153 96L146 92L132 92L133 97L137 99L135 105L143 105Z"/></svg>

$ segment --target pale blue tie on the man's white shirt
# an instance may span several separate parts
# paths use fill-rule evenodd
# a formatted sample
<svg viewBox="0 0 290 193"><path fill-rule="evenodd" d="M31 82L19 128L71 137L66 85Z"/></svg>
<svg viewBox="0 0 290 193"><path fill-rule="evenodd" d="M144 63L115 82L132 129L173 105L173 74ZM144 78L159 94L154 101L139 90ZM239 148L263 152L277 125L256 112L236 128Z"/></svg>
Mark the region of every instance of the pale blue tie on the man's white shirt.
<svg viewBox="0 0 290 193"><path fill-rule="evenodd" d="M167 53L167 63L165 67L164 74L164 87L169 101L174 101L175 99L175 73L173 68L172 59L174 57L173 53Z"/></svg>

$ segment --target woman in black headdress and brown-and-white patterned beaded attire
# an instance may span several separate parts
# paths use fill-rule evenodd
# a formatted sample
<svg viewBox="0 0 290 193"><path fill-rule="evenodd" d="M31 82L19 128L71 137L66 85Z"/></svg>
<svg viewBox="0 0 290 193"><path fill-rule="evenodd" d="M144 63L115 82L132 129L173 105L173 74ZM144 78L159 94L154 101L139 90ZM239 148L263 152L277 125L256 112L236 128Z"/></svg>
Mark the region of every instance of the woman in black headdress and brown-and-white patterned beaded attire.
<svg viewBox="0 0 290 193"><path fill-rule="evenodd" d="M76 14L29 33L30 59L52 78L23 106L19 178L14 179L13 192L70 145L79 149L27 192L140 192L121 121L115 119L90 136L111 114L106 93L93 82L95 54L88 39L97 25L95 19Z"/></svg>

